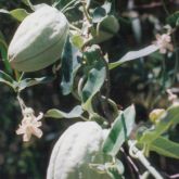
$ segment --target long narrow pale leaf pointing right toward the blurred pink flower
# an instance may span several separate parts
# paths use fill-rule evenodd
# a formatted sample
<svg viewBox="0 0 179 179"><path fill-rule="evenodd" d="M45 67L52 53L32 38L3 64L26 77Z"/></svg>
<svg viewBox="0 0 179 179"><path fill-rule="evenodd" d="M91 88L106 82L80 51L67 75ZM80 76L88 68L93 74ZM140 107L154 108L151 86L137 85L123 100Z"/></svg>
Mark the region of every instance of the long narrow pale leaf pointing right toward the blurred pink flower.
<svg viewBox="0 0 179 179"><path fill-rule="evenodd" d="M130 52L126 53L119 61L110 63L108 67L110 67L110 69L113 69L113 68L122 65L125 62L133 61L139 57L146 56L146 55L155 52L156 50L158 50L158 47L156 47L155 44L151 44L151 46L148 46L146 48L143 48L138 51L130 51Z"/></svg>

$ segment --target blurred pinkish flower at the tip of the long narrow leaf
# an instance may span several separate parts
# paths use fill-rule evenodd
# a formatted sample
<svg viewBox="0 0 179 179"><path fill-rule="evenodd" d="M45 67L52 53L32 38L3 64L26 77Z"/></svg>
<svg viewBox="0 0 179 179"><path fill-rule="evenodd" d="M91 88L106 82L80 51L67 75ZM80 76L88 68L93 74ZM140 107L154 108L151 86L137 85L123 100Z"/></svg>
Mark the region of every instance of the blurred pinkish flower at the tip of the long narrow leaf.
<svg viewBox="0 0 179 179"><path fill-rule="evenodd" d="M156 35L156 41L154 41L154 44L156 44L159 48L161 53L166 53L167 50L172 51L174 47L170 43L171 37L168 34L163 35Z"/></svg>

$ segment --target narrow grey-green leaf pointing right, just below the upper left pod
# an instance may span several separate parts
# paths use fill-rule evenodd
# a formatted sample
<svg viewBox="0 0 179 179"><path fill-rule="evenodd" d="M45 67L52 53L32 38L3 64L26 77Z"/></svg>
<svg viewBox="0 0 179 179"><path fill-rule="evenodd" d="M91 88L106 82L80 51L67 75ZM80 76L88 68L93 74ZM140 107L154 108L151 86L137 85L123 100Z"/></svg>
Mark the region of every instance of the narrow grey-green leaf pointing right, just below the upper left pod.
<svg viewBox="0 0 179 179"><path fill-rule="evenodd" d="M20 92L24 90L25 88L28 88L31 86L51 82L53 79L54 79L53 77L26 78L26 79L21 80L20 82L14 81L13 87Z"/></svg>

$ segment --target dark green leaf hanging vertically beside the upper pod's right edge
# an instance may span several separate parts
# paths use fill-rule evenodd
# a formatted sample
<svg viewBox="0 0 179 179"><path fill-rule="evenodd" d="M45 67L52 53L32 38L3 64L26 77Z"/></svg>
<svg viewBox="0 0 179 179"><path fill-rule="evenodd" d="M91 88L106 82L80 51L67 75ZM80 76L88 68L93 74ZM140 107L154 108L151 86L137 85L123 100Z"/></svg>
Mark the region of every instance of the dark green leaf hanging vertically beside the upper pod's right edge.
<svg viewBox="0 0 179 179"><path fill-rule="evenodd" d="M62 74L61 87L64 95L72 92L76 73L81 66L78 62L79 56L77 52L78 50L72 47L69 39L67 39L62 53L62 67L60 72Z"/></svg>

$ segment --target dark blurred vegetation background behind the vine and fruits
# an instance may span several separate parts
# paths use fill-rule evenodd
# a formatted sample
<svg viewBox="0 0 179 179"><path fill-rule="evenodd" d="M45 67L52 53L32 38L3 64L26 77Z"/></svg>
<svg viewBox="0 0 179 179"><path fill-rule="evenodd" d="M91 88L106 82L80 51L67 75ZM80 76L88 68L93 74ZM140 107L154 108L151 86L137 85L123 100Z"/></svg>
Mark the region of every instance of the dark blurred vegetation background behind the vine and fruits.
<svg viewBox="0 0 179 179"><path fill-rule="evenodd" d="M103 0L97 0L101 3ZM49 3L50 0L31 0L33 3ZM179 9L178 0L115 0L116 16L120 29L111 40L100 46L107 51L111 62L118 60L129 50L138 50L150 44L162 27L167 23L167 17ZM0 9L13 10L24 8L30 10L21 0L1 0ZM5 14L0 14L0 31L9 43L13 37L18 22ZM153 53L146 61L140 59L127 63L111 72L111 98L118 107L126 107L135 103L137 108L137 123L149 120L149 113L154 107L168 105L166 89L179 87L179 54L178 31L172 35L176 51L169 55ZM0 61L0 69L4 69ZM40 76L50 74L48 68L34 74ZM29 74L30 76L30 74ZM56 107L66 112L75 104L72 95L63 97L59 80L53 84L36 86L23 92L23 98L28 106L36 112L46 112ZM0 178L1 179L42 179L53 143L63 130L75 123L74 120L43 120L42 139L34 139L23 143L15 135L21 112L16 97L7 86L0 84ZM172 133L174 140L179 142L179 128ZM162 172L172 175L178 171L179 162L159 157L153 153L151 161ZM127 170L127 169L126 169Z"/></svg>

